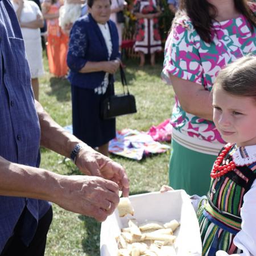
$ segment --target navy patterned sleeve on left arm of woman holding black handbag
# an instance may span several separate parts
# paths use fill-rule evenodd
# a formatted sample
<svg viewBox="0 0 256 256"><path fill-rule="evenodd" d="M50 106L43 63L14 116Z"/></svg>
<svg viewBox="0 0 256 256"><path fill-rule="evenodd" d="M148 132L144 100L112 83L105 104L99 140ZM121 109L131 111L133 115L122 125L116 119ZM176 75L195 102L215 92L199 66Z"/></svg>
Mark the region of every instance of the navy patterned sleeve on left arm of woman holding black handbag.
<svg viewBox="0 0 256 256"><path fill-rule="evenodd" d="M69 36L67 64L68 67L75 72L79 72L88 61L86 59L88 39L84 27L84 22L82 22L82 20L77 20L73 24Z"/></svg>

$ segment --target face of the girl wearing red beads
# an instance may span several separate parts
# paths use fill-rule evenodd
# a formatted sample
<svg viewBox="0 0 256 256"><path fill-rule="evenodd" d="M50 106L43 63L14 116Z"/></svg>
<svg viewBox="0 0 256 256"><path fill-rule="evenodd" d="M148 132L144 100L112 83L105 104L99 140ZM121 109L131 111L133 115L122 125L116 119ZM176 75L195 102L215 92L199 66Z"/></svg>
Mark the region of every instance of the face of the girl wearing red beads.
<svg viewBox="0 0 256 256"><path fill-rule="evenodd" d="M226 142L237 146L256 144L256 102L234 96L217 86L213 90L213 121Z"/></svg>

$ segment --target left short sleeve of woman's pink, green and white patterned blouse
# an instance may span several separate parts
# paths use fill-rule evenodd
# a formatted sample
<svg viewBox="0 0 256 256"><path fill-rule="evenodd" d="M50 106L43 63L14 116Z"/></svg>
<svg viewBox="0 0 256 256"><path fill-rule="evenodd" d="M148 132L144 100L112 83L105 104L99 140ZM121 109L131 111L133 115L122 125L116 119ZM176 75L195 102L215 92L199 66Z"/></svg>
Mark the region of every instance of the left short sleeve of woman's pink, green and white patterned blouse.
<svg viewBox="0 0 256 256"><path fill-rule="evenodd" d="M170 75L203 85L203 67L198 51L200 40L192 23L180 18L172 27L164 49L162 79L171 84ZM197 36L199 38L199 36ZM198 41L198 39L197 39Z"/></svg>

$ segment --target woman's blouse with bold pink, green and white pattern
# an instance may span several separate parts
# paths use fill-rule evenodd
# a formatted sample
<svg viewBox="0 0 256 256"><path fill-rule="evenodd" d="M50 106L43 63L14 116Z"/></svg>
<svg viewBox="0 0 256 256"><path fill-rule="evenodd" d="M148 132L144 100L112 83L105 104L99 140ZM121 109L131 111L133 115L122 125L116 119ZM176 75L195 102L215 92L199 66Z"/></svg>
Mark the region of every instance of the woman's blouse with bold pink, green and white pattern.
<svg viewBox="0 0 256 256"><path fill-rule="evenodd" d="M256 4L251 5L256 10ZM162 78L171 84L169 75L201 84L212 89L218 71L239 57L256 55L256 28L252 32L245 16L213 23L213 42L205 43L191 20L182 16L168 36L164 51ZM224 143L214 123L186 113L175 97L172 126L189 137L208 142Z"/></svg>

